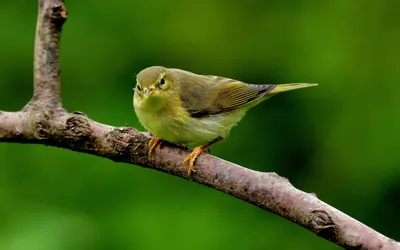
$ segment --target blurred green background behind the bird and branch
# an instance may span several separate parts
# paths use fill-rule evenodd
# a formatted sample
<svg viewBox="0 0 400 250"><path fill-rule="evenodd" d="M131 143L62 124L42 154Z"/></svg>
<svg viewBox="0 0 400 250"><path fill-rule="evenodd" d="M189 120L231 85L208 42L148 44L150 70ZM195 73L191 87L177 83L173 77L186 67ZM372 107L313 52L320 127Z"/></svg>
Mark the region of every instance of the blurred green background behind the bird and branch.
<svg viewBox="0 0 400 250"><path fill-rule="evenodd" d="M67 1L69 111L143 129L151 65L249 83L318 82L252 109L212 153L277 172L400 240L399 1ZM0 108L32 95L36 1L0 2ZM42 145L0 144L0 249L340 249L193 182Z"/></svg>

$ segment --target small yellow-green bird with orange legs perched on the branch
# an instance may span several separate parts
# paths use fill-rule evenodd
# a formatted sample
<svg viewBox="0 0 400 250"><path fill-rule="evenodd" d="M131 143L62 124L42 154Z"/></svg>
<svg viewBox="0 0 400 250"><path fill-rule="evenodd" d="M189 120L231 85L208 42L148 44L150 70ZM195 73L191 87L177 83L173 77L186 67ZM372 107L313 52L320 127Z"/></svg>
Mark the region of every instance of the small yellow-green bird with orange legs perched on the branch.
<svg viewBox="0 0 400 250"><path fill-rule="evenodd" d="M162 140L197 144L183 161L188 175L197 157L226 138L246 111L284 91L316 86L310 83L253 85L180 69L153 66L137 75L133 106L143 126L155 138L149 142L151 157Z"/></svg>

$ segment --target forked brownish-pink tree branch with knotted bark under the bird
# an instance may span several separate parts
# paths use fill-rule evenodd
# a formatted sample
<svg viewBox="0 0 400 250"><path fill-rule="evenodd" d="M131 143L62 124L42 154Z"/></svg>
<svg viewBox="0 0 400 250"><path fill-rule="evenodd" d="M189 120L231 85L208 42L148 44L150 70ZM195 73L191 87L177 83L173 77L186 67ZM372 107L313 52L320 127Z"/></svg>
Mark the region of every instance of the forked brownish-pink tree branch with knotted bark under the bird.
<svg viewBox="0 0 400 250"><path fill-rule="evenodd" d="M35 42L34 94L19 112L0 111L0 142L37 143L98 155L187 178L182 168L189 154L165 145L148 159L150 137L129 127L113 127L61 103L59 41L67 9L61 0L39 0ZM293 187L275 173L246 169L209 154L196 161L191 180L220 190L297 223L347 249L400 249L396 242L315 195Z"/></svg>

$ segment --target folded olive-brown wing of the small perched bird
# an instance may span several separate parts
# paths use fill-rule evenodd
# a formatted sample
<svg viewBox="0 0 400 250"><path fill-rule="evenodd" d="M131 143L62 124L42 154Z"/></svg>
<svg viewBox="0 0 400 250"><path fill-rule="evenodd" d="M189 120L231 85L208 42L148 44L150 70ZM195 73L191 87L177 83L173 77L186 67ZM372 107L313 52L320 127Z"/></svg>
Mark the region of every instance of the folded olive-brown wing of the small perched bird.
<svg viewBox="0 0 400 250"><path fill-rule="evenodd" d="M246 84L218 76L185 79L182 85L182 106L196 118L232 111L275 88L275 85Z"/></svg>

